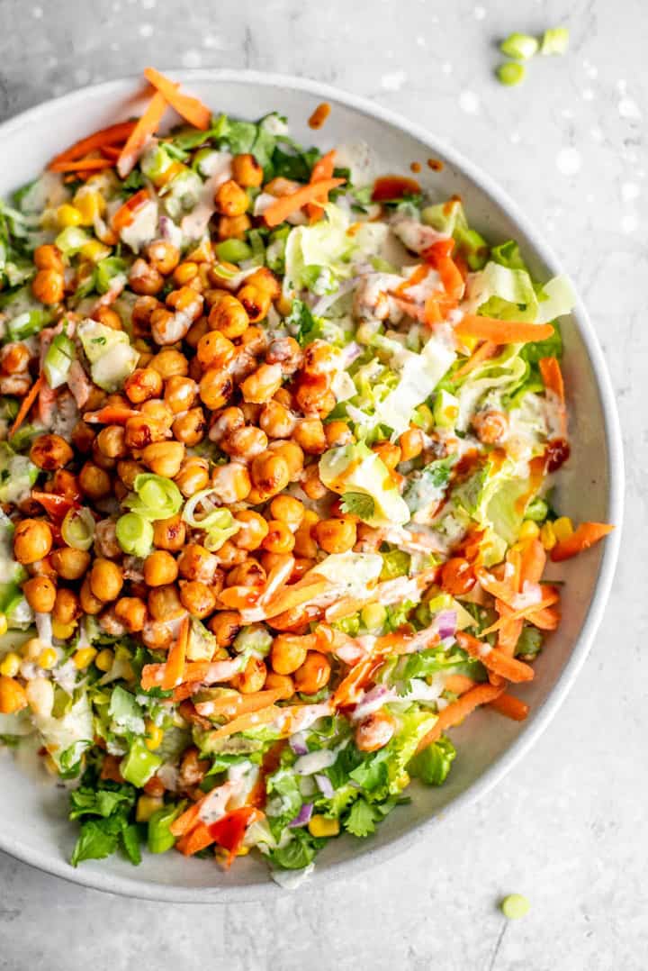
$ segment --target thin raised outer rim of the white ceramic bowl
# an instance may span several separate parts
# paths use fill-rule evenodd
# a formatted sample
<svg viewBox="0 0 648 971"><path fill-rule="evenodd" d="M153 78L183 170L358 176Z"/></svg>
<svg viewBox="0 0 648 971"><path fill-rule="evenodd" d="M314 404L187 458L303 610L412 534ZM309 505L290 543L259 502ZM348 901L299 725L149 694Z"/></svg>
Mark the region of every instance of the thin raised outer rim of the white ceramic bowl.
<svg viewBox="0 0 648 971"><path fill-rule="evenodd" d="M475 184L484 189L508 215L516 220L525 235L533 241L535 251L549 270L554 275L562 272L555 253L545 243L542 237L538 235L529 220L522 214L517 204L509 198L508 194L499 184L478 166L470 162L461 152L449 146L445 140L442 143L440 140L436 142L434 135L431 135L422 125L410 121L397 112L376 105L368 98L349 94L333 85L322 84L293 75L238 70L235 68L200 68L195 70L168 68L165 69L165 73L187 84L196 81L230 82L301 90L315 95L323 101L337 102L357 112L378 118L387 124L400 128L406 134L411 135L429 146L431 151L441 153L453 166L465 173ZM116 100L119 94L131 90L138 83L141 83L140 75L129 75L101 84L88 84L78 90L63 94L60 97L50 98L48 101L41 102L35 107L21 112L16 117L9 118L7 121L0 123L0 139L3 141L11 139L16 131L25 125L34 125L37 128L41 118L44 115L47 116L50 111L62 105L72 108L75 104L82 102L92 92L102 92L104 94L113 93ZM280 108L280 106L278 107ZM474 783L460 793L438 816L429 820L422 820L413 825L408 832L397 837L384 847L372 848L368 846L364 850L359 850L357 854L349 859L329 864L319 872L315 868L314 873L309 878L308 887L316 886L323 881L329 881L331 878L335 879L342 874L344 876L352 876L366 869L370 864L381 863L396 854L403 853L416 839L422 836L425 828L432 828L440 818L445 819L449 815L450 809L454 813L462 807L469 806L495 787L506 773L530 751L549 722L554 718L585 662L599 628L600 620L602 619L619 555L624 512L625 473L621 425L614 392L599 346L598 337L589 315L578 296L576 297L572 313L573 317L577 320L578 329L587 348L599 387L602 411L605 419L605 441L609 456L607 518L608 521L615 524L616 528L606 538L597 583L592 593L591 606L571 649L567 663L561 672L557 684L549 692L539 710L536 710L535 718L529 726L523 730L519 737L511 743L509 748ZM48 854L33 850L26 843L10 839L3 834L2 828L0 828L0 850L39 870L49 873L52 876L61 877L71 883L138 899L159 900L169 903L230 903L235 900L241 902L256 901L261 897L267 897L271 893L280 892L280 888L270 879L264 884L250 887L178 887L174 885L154 884L147 881L132 881L127 878L115 876L109 872L102 873L101 871L83 869L73 870L67 861L58 856L49 857Z"/></svg>

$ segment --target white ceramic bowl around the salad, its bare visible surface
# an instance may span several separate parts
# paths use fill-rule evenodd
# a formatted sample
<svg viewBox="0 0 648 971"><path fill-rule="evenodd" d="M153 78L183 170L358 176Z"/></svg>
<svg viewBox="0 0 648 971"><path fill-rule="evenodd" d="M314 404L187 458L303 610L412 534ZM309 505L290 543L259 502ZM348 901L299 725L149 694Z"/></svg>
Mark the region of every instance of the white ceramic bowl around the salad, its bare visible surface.
<svg viewBox="0 0 648 971"><path fill-rule="evenodd" d="M421 183L439 199L458 193L470 223L487 239L513 237L535 276L561 272L556 258L517 207L471 162L435 143L434 136L405 118L324 84L303 79L238 71L170 71L202 97L214 112L256 119L271 111L289 117L294 136L327 149L341 142L364 141L378 154L384 173L408 174L409 163L423 163ZM97 84L49 101L0 126L3 165L0 195L34 178L49 158L84 134L121 118L143 104L143 84L126 79ZM328 101L331 116L320 132L307 126L316 105ZM426 165L443 161L440 173ZM521 689L531 716L518 723L480 712L452 732L458 756L447 783L438 789L411 787L410 805L385 820L375 835L360 841L343 837L320 854L311 880L330 881L404 850L416 840L438 839L433 824L445 824L452 811L483 795L502 779L556 714L588 653L610 590L619 549L623 506L623 457L616 405L599 343L585 309L578 303L565 318L564 368L571 414L571 459L561 472L558 506L574 519L616 524L595 549L553 569L567 581L564 619L535 663L535 681ZM572 753L576 757L576 753ZM0 849L49 873L87 887L169 901L229 901L278 892L266 864L252 856L223 873L211 860L180 854L147 855L132 867L116 857L67 862L76 827L66 815L64 790L44 772L24 773L11 755L0 755L2 826Z"/></svg>

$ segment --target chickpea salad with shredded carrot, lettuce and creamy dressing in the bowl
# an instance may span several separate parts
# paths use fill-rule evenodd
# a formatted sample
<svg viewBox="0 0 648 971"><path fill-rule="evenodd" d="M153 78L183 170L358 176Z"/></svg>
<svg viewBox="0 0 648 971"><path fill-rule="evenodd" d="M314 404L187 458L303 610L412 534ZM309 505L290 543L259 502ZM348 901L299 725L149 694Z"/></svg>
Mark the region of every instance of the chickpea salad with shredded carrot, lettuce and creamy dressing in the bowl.
<svg viewBox="0 0 648 971"><path fill-rule="evenodd" d="M527 717L547 560L611 528L552 502L571 290L366 147L146 79L0 206L0 739L75 866L308 872Z"/></svg>

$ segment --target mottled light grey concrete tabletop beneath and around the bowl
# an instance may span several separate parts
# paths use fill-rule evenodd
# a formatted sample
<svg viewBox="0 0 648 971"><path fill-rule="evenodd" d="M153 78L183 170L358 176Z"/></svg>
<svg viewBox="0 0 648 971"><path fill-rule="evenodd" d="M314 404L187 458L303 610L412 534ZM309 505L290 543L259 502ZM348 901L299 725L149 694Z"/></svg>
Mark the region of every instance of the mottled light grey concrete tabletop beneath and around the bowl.
<svg viewBox="0 0 648 971"><path fill-rule="evenodd" d="M571 31L566 57L536 59L520 87L494 81L497 38L557 24ZM646 967L645 40L641 0L1 0L2 117L151 62L251 67L367 95L476 160L585 298L621 406L629 482L591 657L533 753L479 805L373 872L263 906L123 900L0 857L0 968ZM532 911L507 923L496 905L513 891Z"/></svg>

